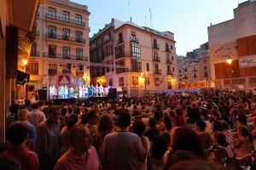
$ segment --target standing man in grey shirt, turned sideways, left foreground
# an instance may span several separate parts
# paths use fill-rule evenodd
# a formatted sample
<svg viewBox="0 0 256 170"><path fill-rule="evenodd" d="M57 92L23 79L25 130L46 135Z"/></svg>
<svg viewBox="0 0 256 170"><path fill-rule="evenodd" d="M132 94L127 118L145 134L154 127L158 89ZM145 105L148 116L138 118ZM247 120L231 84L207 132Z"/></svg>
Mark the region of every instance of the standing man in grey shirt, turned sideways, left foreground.
<svg viewBox="0 0 256 170"><path fill-rule="evenodd" d="M61 155L59 146L61 107L54 105L49 116L37 128L37 153L41 170L52 169Z"/></svg>

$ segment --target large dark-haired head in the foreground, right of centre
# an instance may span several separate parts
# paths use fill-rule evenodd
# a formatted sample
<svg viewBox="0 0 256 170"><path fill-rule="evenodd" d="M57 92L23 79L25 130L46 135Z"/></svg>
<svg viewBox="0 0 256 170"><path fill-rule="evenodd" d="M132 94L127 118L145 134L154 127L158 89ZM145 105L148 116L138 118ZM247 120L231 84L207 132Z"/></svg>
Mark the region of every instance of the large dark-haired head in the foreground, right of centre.
<svg viewBox="0 0 256 170"><path fill-rule="evenodd" d="M172 153L177 150L192 151L195 156L204 159L204 151L201 144L201 139L190 127L179 127L175 130L172 141Z"/></svg>

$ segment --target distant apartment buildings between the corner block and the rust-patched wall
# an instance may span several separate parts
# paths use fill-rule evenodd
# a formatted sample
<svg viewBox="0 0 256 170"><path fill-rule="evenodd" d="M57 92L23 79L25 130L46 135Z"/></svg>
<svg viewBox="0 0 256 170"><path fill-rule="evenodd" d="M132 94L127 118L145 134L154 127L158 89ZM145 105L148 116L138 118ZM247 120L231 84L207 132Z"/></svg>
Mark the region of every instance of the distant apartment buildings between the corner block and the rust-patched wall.
<svg viewBox="0 0 256 170"><path fill-rule="evenodd" d="M188 52L186 57L178 56L180 88L208 88L210 80L210 55L208 42Z"/></svg>

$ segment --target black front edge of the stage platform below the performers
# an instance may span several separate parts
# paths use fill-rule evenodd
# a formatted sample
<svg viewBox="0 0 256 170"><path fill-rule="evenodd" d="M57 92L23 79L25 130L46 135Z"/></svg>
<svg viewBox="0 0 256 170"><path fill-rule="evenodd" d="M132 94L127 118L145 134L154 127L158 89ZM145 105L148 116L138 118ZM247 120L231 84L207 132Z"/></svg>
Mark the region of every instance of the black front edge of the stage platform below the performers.
<svg viewBox="0 0 256 170"><path fill-rule="evenodd" d="M102 101L108 101L108 99L115 99L115 97L111 96L106 96L106 97L89 97L89 98L70 98L70 99L52 99L54 101L54 105L61 105L63 102L64 103L72 103L75 104L78 101L85 101L85 100L90 100L90 101L97 101L97 100L102 100Z"/></svg>

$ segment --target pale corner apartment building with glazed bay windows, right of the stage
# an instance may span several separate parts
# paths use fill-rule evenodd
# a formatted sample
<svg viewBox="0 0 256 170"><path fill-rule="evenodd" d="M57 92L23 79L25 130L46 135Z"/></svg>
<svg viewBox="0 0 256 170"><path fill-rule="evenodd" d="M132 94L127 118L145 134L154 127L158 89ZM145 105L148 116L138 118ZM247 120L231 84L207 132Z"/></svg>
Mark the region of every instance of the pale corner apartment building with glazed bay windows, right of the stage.
<svg viewBox="0 0 256 170"><path fill-rule="evenodd" d="M177 88L174 34L112 19L90 38L94 83L121 87L130 96Z"/></svg>

